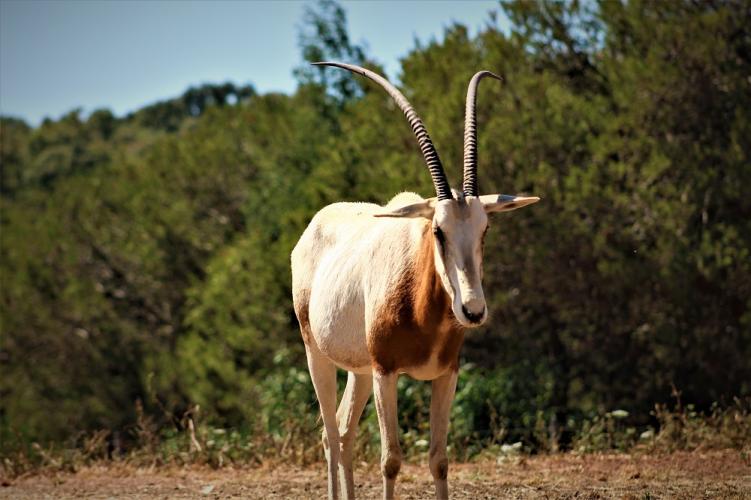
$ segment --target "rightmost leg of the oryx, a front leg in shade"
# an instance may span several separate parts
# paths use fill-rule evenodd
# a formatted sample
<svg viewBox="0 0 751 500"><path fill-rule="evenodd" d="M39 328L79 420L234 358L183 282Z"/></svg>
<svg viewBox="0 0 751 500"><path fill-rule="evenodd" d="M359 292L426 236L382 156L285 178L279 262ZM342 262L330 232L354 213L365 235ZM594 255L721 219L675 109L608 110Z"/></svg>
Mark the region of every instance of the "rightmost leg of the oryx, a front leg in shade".
<svg viewBox="0 0 751 500"><path fill-rule="evenodd" d="M433 380L430 396L430 473L435 483L435 496L449 496L449 461L446 457L446 440L449 430L449 414L456 391L457 372L451 372Z"/></svg>

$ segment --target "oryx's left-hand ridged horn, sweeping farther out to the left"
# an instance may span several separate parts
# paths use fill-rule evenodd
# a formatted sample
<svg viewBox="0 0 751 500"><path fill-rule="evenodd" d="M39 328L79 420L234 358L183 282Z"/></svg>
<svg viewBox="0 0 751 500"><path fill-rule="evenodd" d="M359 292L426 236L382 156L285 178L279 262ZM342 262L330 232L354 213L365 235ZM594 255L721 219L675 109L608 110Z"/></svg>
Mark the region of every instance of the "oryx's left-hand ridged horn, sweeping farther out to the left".
<svg viewBox="0 0 751 500"><path fill-rule="evenodd" d="M394 99L394 101L396 101L399 109L404 112L404 115L407 117L407 121L409 122L409 126L412 127L412 132L414 132L415 137L417 137L417 142L420 145L420 150L422 151L422 155L425 157L425 163L428 164L430 176L433 178L433 185L435 186L435 192L438 196L438 199L450 200L453 198L453 195L451 194L451 187L449 186L448 180L446 179L446 172L444 172L443 165L441 164L441 159L438 157L438 151L436 151L435 147L433 146L433 142L430 140L430 136L428 135L428 131L425 129L425 125L422 124L422 120L420 120L420 117L417 116L417 113L415 112L414 108L409 103L407 98L404 97L404 95L402 95L402 93L399 92L396 87L394 87L388 80L386 80L378 73L374 73L368 69L361 68L360 66L355 66L354 64L344 64L338 62L314 62L313 64L316 66L334 66L336 68L349 70L353 73L358 73L362 76L370 78L381 87L386 89L386 92L388 92L389 95Z"/></svg>

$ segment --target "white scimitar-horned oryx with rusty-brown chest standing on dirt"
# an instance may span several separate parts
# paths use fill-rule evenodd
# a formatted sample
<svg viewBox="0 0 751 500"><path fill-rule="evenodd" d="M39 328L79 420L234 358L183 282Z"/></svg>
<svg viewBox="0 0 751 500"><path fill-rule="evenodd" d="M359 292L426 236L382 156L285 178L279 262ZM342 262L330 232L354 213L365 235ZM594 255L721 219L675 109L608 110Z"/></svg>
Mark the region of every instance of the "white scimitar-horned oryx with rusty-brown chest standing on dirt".
<svg viewBox="0 0 751 500"><path fill-rule="evenodd" d="M402 461L396 382L406 373L432 381L430 472L438 498L448 497L446 436L464 329L487 318L482 291L488 214L539 201L477 188L475 101L483 77L467 91L464 189L449 188L425 126L385 78L358 66L322 62L366 76L407 117L435 185L436 197L401 193L386 206L334 203L318 212L292 251L292 293L308 367L323 419L329 498L354 496L352 449L371 391L381 431L383 493L392 498ZM336 407L336 369L348 379ZM341 483L337 482L337 472Z"/></svg>

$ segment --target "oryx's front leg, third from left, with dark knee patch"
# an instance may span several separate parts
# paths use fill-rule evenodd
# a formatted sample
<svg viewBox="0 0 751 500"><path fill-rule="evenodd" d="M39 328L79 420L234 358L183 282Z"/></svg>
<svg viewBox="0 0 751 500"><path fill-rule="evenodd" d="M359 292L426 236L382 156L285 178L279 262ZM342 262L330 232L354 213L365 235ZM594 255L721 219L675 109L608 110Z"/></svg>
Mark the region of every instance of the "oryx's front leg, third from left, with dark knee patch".
<svg viewBox="0 0 751 500"><path fill-rule="evenodd" d="M381 430L381 473L383 474L383 498L394 498L394 483L402 466L402 450L399 447L399 426L396 415L397 373L373 372L378 427Z"/></svg>

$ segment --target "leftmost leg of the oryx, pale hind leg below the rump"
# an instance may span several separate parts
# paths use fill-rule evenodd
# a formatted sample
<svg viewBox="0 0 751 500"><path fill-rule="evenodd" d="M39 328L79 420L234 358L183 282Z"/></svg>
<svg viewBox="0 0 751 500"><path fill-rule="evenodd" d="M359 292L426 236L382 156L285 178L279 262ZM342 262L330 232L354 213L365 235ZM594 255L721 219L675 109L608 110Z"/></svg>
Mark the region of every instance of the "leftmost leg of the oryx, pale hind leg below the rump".
<svg viewBox="0 0 751 500"><path fill-rule="evenodd" d="M305 346L308 369L321 407L323 448L329 476L329 499L339 498L336 478L339 463L339 429L336 426L336 366L316 346Z"/></svg>

